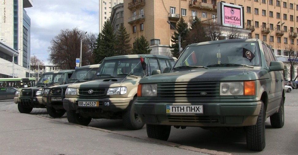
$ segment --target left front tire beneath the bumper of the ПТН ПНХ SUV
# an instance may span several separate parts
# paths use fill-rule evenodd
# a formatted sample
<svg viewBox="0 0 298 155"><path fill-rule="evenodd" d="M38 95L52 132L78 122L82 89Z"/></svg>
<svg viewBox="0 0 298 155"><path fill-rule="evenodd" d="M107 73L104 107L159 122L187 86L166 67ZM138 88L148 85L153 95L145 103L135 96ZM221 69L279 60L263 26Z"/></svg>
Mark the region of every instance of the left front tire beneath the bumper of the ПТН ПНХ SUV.
<svg viewBox="0 0 298 155"><path fill-rule="evenodd" d="M149 138L167 141L170 136L171 126L146 124L146 130Z"/></svg>

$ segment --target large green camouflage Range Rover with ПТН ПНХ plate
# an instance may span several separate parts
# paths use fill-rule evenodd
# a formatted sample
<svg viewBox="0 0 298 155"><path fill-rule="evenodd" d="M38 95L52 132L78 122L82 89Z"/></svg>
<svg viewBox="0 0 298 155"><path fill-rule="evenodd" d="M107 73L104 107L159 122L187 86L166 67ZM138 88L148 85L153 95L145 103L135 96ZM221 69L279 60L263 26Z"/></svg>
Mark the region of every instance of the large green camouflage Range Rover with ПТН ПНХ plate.
<svg viewBox="0 0 298 155"><path fill-rule="evenodd" d="M169 73L142 78L136 112L150 138L167 140L171 126L246 130L248 149L265 148L265 120L284 125L284 70L258 39L188 45Z"/></svg>

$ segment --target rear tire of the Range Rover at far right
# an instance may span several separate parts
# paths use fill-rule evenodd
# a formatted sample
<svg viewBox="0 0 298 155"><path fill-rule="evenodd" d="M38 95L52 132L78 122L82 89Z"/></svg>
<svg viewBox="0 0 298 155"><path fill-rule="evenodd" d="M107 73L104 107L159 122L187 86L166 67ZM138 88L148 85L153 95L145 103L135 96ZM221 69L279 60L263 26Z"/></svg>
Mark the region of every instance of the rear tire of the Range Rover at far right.
<svg viewBox="0 0 298 155"><path fill-rule="evenodd" d="M281 99L278 112L270 116L270 123L272 127L282 128L285 124L284 100Z"/></svg>

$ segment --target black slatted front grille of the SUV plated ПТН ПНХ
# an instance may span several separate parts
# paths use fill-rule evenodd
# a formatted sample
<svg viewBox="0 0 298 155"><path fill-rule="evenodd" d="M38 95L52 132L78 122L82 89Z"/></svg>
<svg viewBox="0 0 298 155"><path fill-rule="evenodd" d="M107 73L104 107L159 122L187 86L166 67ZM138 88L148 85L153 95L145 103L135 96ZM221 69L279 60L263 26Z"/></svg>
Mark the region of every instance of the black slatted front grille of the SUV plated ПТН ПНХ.
<svg viewBox="0 0 298 155"><path fill-rule="evenodd" d="M157 96L161 98L214 99L220 97L220 83L211 82L169 82L157 84Z"/></svg>

